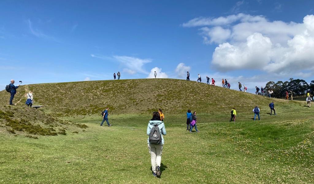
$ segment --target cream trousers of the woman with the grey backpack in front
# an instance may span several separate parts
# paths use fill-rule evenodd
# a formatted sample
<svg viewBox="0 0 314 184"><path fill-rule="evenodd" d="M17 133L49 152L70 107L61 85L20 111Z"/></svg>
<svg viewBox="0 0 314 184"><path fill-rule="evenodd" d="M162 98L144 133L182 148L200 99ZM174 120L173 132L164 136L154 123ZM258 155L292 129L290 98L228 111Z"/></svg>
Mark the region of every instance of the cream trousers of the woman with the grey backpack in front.
<svg viewBox="0 0 314 184"><path fill-rule="evenodd" d="M152 164L152 170L154 173L156 173L156 166L160 167L160 164L161 164L162 145L149 143L148 151L150 154L150 162Z"/></svg>

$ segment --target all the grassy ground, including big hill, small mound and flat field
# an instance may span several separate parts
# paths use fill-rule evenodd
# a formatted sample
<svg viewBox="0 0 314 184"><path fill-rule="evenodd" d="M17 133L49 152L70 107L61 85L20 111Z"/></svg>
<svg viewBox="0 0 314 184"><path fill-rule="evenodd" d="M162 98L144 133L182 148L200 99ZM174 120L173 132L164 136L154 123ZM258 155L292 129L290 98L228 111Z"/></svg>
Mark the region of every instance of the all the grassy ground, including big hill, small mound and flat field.
<svg viewBox="0 0 314 184"><path fill-rule="evenodd" d="M42 109L24 105L29 90ZM8 93L0 97L6 104ZM19 100L0 107L0 183L314 182L314 117L303 101L176 79L33 84L18 89ZM252 120L254 105L261 121ZM112 127L99 126L106 106ZM158 108L167 130L160 179L146 135ZM186 131L187 109L198 112L200 133Z"/></svg>

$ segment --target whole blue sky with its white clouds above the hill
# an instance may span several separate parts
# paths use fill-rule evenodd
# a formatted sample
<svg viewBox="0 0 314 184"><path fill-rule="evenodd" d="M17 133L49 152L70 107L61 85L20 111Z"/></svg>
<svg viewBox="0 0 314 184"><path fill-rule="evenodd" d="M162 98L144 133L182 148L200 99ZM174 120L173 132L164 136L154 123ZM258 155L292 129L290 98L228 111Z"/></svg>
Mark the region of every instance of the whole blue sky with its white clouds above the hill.
<svg viewBox="0 0 314 184"><path fill-rule="evenodd" d="M313 1L0 2L0 87L200 73L314 80ZM307 16L308 15L308 16Z"/></svg>

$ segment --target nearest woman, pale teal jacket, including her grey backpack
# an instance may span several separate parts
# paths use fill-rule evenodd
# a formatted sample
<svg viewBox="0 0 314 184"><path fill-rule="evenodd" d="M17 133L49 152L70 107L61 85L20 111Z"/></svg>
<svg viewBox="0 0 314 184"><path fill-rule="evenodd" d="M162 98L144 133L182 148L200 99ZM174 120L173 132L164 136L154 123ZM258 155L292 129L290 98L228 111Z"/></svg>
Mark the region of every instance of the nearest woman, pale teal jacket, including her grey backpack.
<svg viewBox="0 0 314 184"><path fill-rule="evenodd" d="M152 165L153 176L160 177L160 164L163 144L165 143L162 135L166 135L164 122L160 121L159 112L153 112L153 118L147 126L148 150L150 154L150 162Z"/></svg>

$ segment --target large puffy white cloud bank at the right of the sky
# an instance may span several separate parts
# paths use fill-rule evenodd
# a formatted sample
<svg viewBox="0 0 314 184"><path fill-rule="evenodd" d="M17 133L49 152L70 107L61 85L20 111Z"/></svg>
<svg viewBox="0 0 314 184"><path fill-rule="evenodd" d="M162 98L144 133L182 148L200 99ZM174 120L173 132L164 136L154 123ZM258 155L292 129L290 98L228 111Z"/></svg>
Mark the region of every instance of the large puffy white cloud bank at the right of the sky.
<svg viewBox="0 0 314 184"><path fill-rule="evenodd" d="M303 76L313 73L314 15L304 17L303 23L286 23L237 14L192 19L184 26L206 26L200 28L204 43L219 43L212 64L221 71L260 69Z"/></svg>

